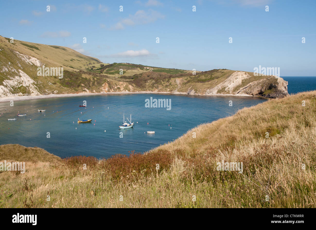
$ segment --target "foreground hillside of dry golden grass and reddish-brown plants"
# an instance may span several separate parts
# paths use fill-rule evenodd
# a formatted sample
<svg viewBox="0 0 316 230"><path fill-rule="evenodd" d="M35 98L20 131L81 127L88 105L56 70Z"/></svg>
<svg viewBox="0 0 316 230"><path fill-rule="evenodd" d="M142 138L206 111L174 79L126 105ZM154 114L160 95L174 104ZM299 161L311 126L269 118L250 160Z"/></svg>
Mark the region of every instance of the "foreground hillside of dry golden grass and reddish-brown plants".
<svg viewBox="0 0 316 230"><path fill-rule="evenodd" d="M0 207L315 208L315 114L311 91L199 125L145 155L49 163L27 154L24 174L0 173ZM7 152L2 160L24 157ZM243 173L217 171L222 160L243 162Z"/></svg>

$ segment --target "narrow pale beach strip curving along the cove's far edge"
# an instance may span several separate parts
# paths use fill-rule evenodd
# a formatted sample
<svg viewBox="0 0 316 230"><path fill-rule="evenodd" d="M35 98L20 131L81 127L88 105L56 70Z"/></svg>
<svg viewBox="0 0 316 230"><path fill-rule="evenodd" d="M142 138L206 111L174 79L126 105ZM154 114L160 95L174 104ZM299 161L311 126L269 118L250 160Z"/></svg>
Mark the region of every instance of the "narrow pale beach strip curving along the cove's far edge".
<svg viewBox="0 0 316 230"><path fill-rule="evenodd" d="M257 97L248 94L187 94L182 92L155 92L155 91L136 91L136 92L107 92L107 93L77 93L77 94L48 94L48 95L32 95L32 96L10 96L0 98L0 102L8 101L21 101L21 100L34 100L44 98L56 98L56 97L77 97L77 96L91 96L91 95L105 95L105 94L182 94L190 96L237 96L237 97ZM259 97L260 98L260 97Z"/></svg>

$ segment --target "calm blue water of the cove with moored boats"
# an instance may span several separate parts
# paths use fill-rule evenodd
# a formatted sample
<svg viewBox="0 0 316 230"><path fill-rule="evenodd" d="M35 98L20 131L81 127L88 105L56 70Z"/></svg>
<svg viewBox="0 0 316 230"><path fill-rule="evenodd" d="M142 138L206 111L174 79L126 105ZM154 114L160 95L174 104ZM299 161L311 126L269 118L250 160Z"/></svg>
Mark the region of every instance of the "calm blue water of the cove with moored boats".
<svg viewBox="0 0 316 230"><path fill-rule="evenodd" d="M150 97L171 99L171 110L145 108L145 99ZM79 107L83 100L87 101L86 108ZM233 106L228 106L229 100ZM60 157L107 158L113 154L129 154L131 150L144 152L176 139L198 124L230 116L238 109L263 101L255 97L112 94L15 101L13 107L9 102L2 102L0 144L37 146ZM46 112L37 112L41 108ZM18 111L27 116L16 116ZM128 118L132 114L133 128L119 129L123 112ZM17 120L8 121L8 118ZM78 124L78 118L93 122ZM47 132L50 138L46 137Z"/></svg>

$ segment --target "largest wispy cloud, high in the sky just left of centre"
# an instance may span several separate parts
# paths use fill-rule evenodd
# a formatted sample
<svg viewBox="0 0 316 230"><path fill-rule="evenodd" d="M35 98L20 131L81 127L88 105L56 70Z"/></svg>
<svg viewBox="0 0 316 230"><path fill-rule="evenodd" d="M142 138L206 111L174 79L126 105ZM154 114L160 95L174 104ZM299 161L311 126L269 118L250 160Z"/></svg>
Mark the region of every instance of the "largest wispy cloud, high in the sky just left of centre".
<svg viewBox="0 0 316 230"><path fill-rule="evenodd" d="M128 18L124 18L117 22L110 29L119 30L124 29L125 26L143 25L151 22L155 22L158 19L164 19L165 15L162 15L158 11L149 9L148 11L138 10L134 15L129 15Z"/></svg>

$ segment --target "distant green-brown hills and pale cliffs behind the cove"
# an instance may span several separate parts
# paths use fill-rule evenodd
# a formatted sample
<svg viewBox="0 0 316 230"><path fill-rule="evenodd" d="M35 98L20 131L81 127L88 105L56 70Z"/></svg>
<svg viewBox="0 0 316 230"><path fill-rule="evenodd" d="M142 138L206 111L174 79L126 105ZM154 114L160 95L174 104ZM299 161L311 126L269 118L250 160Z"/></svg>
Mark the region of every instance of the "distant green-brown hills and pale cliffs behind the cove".
<svg viewBox="0 0 316 230"><path fill-rule="evenodd" d="M37 76L37 68L63 67L64 77ZM230 79L234 70L191 70L167 69L130 63L101 63L73 49L44 45L20 40L10 43L9 38L0 36L0 97L42 94L65 94L82 92L137 92L154 91L170 93L206 94L210 89ZM277 83L273 77L254 76L253 73L238 71L248 77L238 84L231 79L219 94L236 94L251 82L265 79L246 94L269 97L276 92ZM234 86L228 90L227 86ZM263 87L264 90L259 90ZM264 91L269 90L264 94ZM255 94L253 93L255 92ZM262 92L261 92L262 91ZM286 91L286 89L283 89ZM268 94L270 93L270 94ZM287 92L285 93L287 94ZM282 95L284 96L284 95Z"/></svg>

